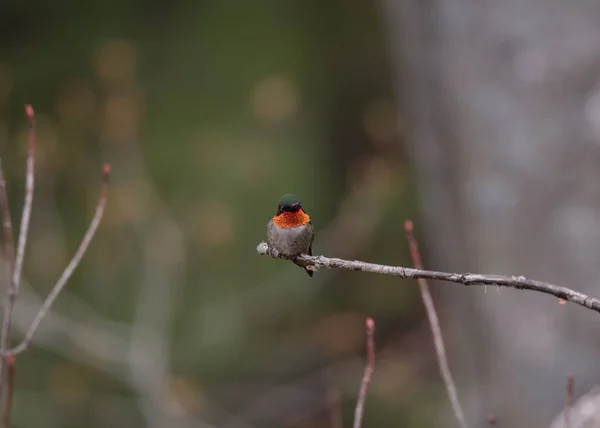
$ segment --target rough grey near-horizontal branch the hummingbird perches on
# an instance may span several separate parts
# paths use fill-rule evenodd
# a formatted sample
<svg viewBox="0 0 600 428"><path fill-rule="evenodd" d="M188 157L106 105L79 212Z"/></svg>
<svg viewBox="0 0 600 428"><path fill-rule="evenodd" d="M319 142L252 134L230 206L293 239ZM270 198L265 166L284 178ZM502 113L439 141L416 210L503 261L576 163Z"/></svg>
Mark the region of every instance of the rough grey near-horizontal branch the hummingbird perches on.
<svg viewBox="0 0 600 428"><path fill-rule="evenodd" d="M261 242L256 251L261 256L268 255L276 259L290 260L291 257L280 254L274 248L270 248L266 242ZM524 276L508 275L485 275L477 273L448 273L428 271L422 269L411 269L401 266L388 266L375 263L366 263L358 260L344 260L325 256L301 255L294 258L301 266L315 266L316 268L337 268L362 272L378 273L381 275L393 275L400 278L410 279L436 279L440 281L454 282L463 285L496 285L499 287L515 288L517 290L530 290L577 303L585 308L600 313L600 300L588 296L570 288L547 282L527 279Z"/></svg>

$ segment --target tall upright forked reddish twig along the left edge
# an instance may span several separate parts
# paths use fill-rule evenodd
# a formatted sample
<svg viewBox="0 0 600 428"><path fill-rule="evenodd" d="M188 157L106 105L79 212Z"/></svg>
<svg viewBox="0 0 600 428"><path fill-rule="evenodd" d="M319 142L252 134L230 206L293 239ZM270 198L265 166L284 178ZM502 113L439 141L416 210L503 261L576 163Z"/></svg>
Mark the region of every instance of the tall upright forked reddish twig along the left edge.
<svg viewBox="0 0 600 428"><path fill-rule="evenodd" d="M27 150L27 170L25 175L25 202L23 203L23 215L21 216L21 228L19 230L19 242L17 244L17 254L14 260L11 260L9 271L12 271L10 282L8 284L8 292L6 293L6 303L4 306L4 318L2 321L2 333L0 335L0 351L5 352L10 347L10 330L12 324L12 314L15 307L15 301L19 294L21 285L21 272L23 270L23 259L25 257L25 247L27 245L27 233L29 231L29 220L31 218L31 206L33 203L33 187L34 187L34 165L35 165L35 112L30 105L25 106L25 115L29 121L29 146ZM2 180L4 181L4 180ZM6 184L4 184L6 187ZM8 201L5 199L6 194L2 196L3 209L9 211ZM10 214L5 216L5 247L11 247L11 254L7 256L14 257L14 240L12 237L12 224L10 222ZM7 251L8 252L8 251ZM13 265L14 263L14 265ZM2 378L6 370L6 362L4 358L0 360L0 392L2 391Z"/></svg>

